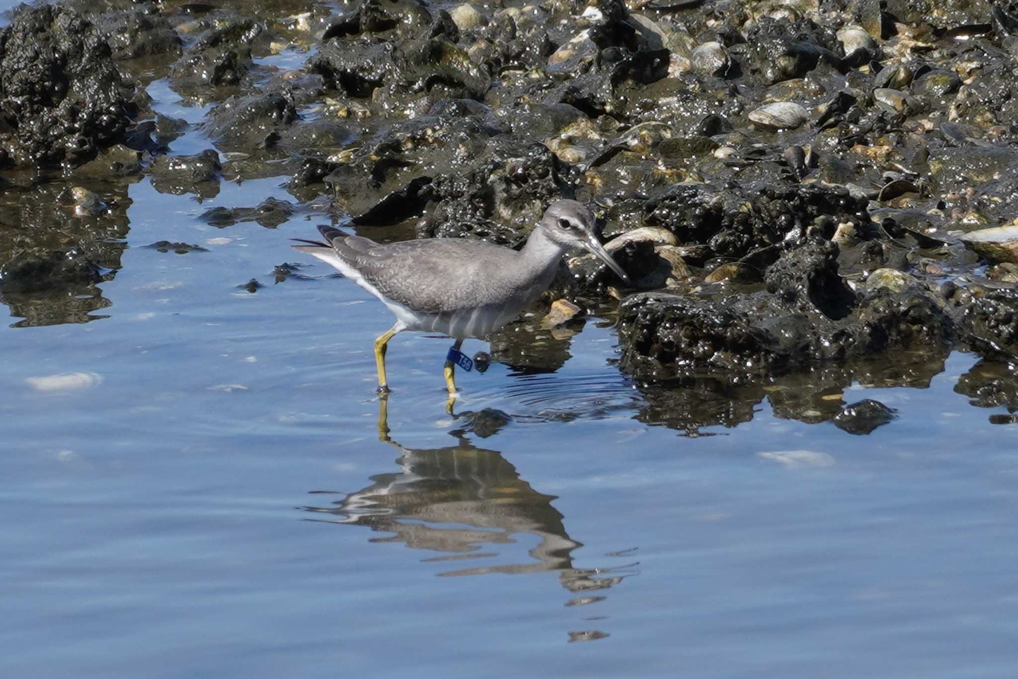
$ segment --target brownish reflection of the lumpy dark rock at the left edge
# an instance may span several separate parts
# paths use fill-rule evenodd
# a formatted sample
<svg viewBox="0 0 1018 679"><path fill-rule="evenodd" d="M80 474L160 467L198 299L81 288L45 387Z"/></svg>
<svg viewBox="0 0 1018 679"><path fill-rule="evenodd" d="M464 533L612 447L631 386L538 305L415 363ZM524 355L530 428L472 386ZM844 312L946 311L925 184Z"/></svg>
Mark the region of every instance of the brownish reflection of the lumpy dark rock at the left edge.
<svg viewBox="0 0 1018 679"><path fill-rule="evenodd" d="M111 303L97 284L120 268L130 203L125 184L113 188L40 184L0 194L0 301L24 319L15 327L105 318L92 316ZM81 195L102 209L80 209Z"/></svg>

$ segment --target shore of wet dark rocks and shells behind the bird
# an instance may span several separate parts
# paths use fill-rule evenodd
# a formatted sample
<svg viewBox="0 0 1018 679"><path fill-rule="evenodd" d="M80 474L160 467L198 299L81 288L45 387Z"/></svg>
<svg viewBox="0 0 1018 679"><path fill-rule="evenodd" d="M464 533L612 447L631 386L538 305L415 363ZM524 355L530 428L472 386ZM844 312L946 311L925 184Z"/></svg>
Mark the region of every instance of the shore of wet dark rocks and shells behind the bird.
<svg viewBox="0 0 1018 679"><path fill-rule="evenodd" d="M212 105L214 150L166 154L188 123L155 80ZM7 204L48 171L199 196L285 172L294 203L210 223L328 202L508 245L555 199L596 204L636 289L586 256L558 291L621 300L621 367L665 401L718 395L689 428L780 411L803 374L798 416L828 418L825 390L928 383L953 348L1015 360L1016 113L1018 3L991 0L67 0L0 31ZM0 292L110 275L96 235L5 257ZM958 389L1018 409L973 375Z"/></svg>

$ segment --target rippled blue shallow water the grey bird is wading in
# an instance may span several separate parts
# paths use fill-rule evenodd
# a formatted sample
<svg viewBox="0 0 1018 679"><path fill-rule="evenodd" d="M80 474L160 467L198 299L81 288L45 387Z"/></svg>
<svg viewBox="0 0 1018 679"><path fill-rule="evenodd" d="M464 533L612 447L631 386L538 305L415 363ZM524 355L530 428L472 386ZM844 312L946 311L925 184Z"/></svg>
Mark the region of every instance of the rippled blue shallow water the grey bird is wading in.
<svg viewBox="0 0 1018 679"><path fill-rule="evenodd" d="M606 309L568 339L508 329L516 366L460 375L452 414L447 341L401 334L381 403L388 313L288 247L328 216L201 219L296 203L285 179L93 187L96 218L52 187L5 203L101 235L114 275L5 299L4 676L1013 674L1018 426L959 393L1006 366L652 389ZM862 398L897 418L823 421Z"/></svg>

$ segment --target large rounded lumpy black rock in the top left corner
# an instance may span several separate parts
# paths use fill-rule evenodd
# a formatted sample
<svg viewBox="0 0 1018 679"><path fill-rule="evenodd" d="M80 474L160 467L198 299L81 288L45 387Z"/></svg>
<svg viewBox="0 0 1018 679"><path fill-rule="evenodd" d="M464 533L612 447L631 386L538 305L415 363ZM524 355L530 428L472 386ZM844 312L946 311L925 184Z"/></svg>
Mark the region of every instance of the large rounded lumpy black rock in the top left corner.
<svg viewBox="0 0 1018 679"><path fill-rule="evenodd" d="M137 107L106 34L76 11L22 5L0 31L0 149L15 166L69 166L120 144Z"/></svg>

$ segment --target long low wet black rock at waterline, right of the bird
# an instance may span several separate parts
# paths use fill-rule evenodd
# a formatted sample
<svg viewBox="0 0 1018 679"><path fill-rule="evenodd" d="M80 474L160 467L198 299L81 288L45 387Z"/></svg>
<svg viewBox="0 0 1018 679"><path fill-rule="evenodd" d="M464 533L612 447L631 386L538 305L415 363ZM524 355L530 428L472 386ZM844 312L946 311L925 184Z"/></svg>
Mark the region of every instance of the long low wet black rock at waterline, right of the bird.
<svg viewBox="0 0 1018 679"><path fill-rule="evenodd" d="M928 296L862 299L848 317L789 315L766 294L720 301L662 293L627 297L619 310L623 370L664 380L718 370L736 375L801 370L921 349L944 354L954 325Z"/></svg>

